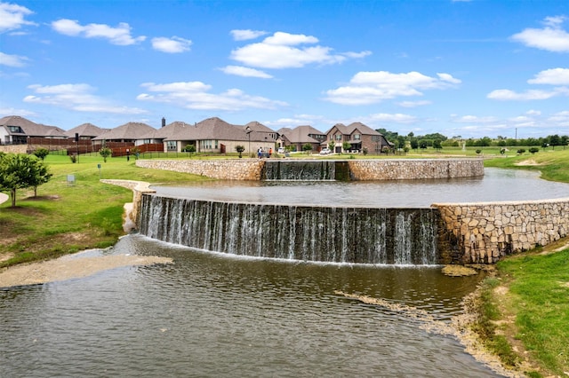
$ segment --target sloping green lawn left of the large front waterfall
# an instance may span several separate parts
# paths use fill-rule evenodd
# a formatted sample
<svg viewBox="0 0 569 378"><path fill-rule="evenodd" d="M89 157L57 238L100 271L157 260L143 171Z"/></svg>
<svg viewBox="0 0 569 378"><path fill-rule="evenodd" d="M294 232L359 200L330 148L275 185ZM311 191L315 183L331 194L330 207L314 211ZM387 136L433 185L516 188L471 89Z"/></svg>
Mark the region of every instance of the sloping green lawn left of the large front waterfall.
<svg viewBox="0 0 569 378"><path fill-rule="evenodd" d="M68 156L48 155L45 164L52 179L32 190L20 190L16 207L0 205L0 268L74 253L88 248L106 248L124 234L124 203L132 191L100 183L100 178L159 182L203 180L204 177L140 169L134 160L81 156L72 163ZM100 169L98 169L100 164ZM75 184L68 185L68 175Z"/></svg>

